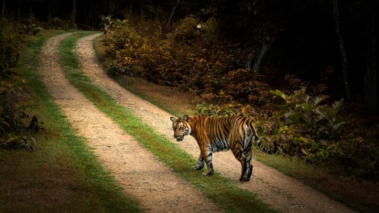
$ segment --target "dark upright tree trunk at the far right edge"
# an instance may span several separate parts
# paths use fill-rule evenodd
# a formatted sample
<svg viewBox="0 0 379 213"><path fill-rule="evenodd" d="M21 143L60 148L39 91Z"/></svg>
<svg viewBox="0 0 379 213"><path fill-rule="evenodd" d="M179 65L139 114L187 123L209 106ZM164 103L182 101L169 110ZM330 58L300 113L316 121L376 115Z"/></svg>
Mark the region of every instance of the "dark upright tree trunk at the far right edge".
<svg viewBox="0 0 379 213"><path fill-rule="evenodd" d="M378 0L371 0L367 8L367 70L365 73L365 105L379 110L378 75L376 74L376 8Z"/></svg>

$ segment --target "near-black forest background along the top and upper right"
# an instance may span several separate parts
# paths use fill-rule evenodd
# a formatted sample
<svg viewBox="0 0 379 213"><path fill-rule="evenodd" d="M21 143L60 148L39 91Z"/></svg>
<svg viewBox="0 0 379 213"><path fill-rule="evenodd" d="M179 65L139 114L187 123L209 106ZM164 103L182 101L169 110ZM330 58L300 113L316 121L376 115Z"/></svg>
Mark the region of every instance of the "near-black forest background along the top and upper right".
<svg viewBox="0 0 379 213"><path fill-rule="evenodd" d="M336 99L365 103L378 110L378 1L2 1L1 14L39 21L64 19L68 26L99 29L101 15L159 20L171 24L189 15L216 19L222 39L243 44L246 63L255 71L269 64L272 74L295 74L315 82ZM282 79L282 78L280 78ZM326 82L325 82L326 83ZM319 88L320 90L322 88ZM326 91L325 91L326 92Z"/></svg>

